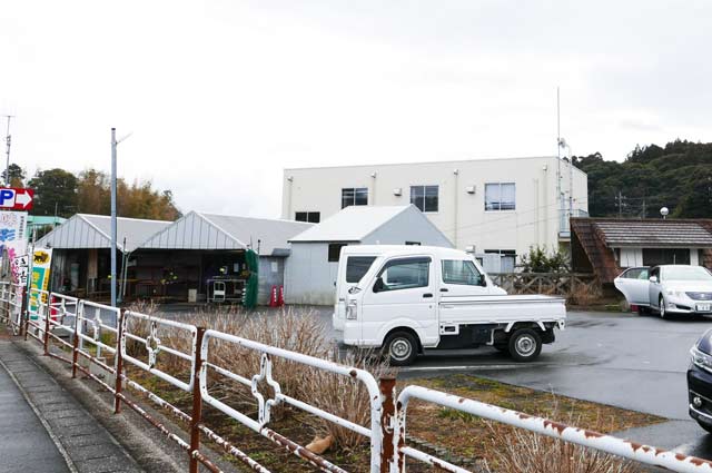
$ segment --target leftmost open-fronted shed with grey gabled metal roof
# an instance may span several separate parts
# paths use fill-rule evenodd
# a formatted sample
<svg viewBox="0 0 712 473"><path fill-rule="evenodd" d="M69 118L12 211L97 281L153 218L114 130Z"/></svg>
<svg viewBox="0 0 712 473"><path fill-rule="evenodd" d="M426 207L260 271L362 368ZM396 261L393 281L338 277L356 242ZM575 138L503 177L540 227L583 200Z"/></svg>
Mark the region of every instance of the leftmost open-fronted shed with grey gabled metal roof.
<svg viewBox="0 0 712 473"><path fill-rule="evenodd" d="M117 248L127 255L170 221L117 218ZM52 248L50 287L79 296L100 297L111 289L111 217L77 214L34 243Z"/></svg>

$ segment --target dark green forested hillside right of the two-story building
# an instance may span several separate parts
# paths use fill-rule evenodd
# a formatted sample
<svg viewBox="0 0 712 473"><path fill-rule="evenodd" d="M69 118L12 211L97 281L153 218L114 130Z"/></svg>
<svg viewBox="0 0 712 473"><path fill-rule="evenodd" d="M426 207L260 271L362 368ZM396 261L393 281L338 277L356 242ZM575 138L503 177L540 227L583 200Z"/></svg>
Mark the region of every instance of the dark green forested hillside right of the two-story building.
<svg viewBox="0 0 712 473"><path fill-rule="evenodd" d="M623 162L596 152L574 165L589 175L592 217L659 217L664 206L673 217L712 218L710 142L636 146Z"/></svg>

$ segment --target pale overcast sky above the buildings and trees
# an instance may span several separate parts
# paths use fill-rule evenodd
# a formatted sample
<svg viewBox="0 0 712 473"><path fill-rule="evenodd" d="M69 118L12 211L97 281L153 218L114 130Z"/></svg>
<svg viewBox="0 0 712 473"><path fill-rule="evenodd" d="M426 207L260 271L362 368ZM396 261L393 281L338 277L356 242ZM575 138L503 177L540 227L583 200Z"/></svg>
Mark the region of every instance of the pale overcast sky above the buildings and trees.
<svg viewBox="0 0 712 473"><path fill-rule="evenodd" d="M556 86L575 155L712 141L703 0L0 6L12 161L108 170L117 127L184 213L277 217L285 167L555 155Z"/></svg>

